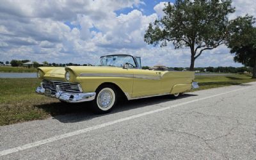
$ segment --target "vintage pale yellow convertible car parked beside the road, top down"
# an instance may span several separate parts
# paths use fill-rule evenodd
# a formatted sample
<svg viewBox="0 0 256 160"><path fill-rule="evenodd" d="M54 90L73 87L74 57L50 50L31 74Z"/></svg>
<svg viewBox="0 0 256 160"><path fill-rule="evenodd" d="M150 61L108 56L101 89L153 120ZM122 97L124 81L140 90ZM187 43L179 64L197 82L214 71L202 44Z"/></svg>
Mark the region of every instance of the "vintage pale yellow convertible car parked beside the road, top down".
<svg viewBox="0 0 256 160"><path fill-rule="evenodd" d="M198 88L193 82L195 72L141 69L141 58L127 54L100 57L97 66L39 67L42 83L36 93L63 102L92 101L100 113L113 109L116 100L172 95Z"/></svg>

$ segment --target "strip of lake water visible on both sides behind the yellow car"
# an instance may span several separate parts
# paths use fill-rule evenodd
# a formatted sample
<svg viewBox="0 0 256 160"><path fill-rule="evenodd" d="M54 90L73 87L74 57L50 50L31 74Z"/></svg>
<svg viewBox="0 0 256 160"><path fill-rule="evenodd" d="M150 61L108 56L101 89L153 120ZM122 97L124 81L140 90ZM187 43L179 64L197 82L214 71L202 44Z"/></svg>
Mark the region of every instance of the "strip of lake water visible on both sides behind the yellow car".
<svg viewBox="0 0 256 160"><path fill-rule="evenodd" d="M196 76L228 76L232 74L195 73ZM36 78L36 73L0 73L0 78Z"/></svg>

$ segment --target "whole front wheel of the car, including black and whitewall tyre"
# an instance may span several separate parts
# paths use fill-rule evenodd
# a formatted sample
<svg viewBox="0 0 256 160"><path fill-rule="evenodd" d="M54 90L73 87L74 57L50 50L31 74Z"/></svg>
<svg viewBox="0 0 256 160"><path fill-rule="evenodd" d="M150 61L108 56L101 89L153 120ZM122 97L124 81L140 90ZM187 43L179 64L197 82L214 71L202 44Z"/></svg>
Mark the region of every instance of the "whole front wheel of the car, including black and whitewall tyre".
<svg viewBox="0 0 256 160"><path fill-rule="evenodd" d="M111 85L101 86L96 91L92 109L96 113L108 113L116 104L117 96L115 87Z"/></svg>

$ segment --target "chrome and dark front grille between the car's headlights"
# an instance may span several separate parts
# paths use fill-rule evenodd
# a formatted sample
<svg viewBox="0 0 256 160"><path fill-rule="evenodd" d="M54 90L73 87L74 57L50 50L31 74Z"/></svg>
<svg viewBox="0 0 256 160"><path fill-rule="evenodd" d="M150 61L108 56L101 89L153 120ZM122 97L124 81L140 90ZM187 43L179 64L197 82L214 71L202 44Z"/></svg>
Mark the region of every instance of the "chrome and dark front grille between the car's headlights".
<svg viewBox="0 0 256 160"><path fill-rule="evenodd" d="M66 92L81 92L79 90L78 84L76 83L67 83L67 82L61 82L61 81L49 81L49 80L43 80L43 86L45 89L51 90L53 93L56 93L56 86L60 86L61 91Z"/></svg>

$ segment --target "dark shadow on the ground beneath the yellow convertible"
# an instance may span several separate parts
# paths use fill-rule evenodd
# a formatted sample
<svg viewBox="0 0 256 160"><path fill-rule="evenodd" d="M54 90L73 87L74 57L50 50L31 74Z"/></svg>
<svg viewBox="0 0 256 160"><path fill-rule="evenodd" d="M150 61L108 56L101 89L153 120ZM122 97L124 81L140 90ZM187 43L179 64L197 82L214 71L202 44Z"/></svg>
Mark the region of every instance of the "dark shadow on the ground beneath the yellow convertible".
<svg viewBox="0 0 256 160"><path fill-rule="evenodd" d="M196 96L195 94L184 94L179 97L179 99L184 99L186 97ZM63 123L74 123L82 122L84 120L90 120L99 116L111 115L113 113L128 111L136 108L144 108L151 105L160 104L162 102L168 102L170 100L170 95L164 95L159 97L151 97L147 99L138 100L119 100L116 107L111 111L111 113L106 113L103 115L95 114L90 109L90 102L83 102L77 104L70 104L65 102L54 102L49 104L41 104L35 106L36 108L44 109L45 112L49 113L53 118L59 120Z"/></svg>

